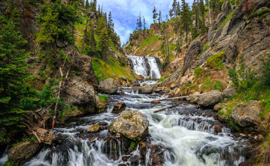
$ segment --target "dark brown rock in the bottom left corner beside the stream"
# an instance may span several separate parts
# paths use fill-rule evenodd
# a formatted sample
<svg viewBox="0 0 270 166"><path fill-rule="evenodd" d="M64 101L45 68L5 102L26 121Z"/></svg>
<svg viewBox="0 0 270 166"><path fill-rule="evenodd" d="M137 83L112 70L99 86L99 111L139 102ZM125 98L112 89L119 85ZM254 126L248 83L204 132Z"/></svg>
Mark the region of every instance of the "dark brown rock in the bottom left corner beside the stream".
<svg viewBox="0 0 270 166"><path fill-rule="evenodd" d="M35 141L21 142L8 151L8 160L20 163L33 157L41 148L42 144Z"/></svg>

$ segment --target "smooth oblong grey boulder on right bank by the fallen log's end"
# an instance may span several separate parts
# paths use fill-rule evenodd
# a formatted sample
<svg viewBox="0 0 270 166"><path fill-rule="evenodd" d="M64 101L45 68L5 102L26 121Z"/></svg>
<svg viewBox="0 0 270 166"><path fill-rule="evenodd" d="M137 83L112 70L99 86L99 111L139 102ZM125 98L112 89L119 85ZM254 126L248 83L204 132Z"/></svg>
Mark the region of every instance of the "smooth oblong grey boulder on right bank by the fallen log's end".
<svg viewBox="0 0 270 166"><path fill-rule="evenodd" d="M213 90L208 93L201 94L197 103L200 107L213 107L222 100L222 93L220 91Z"/></svg>

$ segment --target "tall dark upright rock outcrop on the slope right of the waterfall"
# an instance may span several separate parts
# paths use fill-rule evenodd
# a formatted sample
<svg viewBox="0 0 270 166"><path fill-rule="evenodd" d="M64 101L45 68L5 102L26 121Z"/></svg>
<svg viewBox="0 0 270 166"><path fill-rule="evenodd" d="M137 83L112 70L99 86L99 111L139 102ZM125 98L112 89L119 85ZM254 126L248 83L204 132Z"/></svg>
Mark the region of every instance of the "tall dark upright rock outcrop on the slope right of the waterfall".
<svg viewBox="0 0 270 166"><path fill-rule="evenodd" d="M197 66L197 58L199 53L202 51L201 42L194 40L186 52L185 57L183 58L183 71L184 74L188 73L190 68Z"/></svg>

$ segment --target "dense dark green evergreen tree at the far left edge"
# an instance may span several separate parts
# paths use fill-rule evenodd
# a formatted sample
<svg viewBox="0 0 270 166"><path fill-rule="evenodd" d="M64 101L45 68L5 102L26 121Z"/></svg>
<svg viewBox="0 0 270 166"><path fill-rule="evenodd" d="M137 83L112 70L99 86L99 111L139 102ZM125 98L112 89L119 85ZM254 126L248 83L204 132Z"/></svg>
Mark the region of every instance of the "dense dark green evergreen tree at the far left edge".
<svg viewBox="0 0 270 166"><path fill-rule="evenodd" d="M12 15L18 13L12 12ZM26 43L19 26L10 17L0 16L0 142L6 140L7 131L17 129L17 122L26 113L21 104L28 92Z"/></svg>

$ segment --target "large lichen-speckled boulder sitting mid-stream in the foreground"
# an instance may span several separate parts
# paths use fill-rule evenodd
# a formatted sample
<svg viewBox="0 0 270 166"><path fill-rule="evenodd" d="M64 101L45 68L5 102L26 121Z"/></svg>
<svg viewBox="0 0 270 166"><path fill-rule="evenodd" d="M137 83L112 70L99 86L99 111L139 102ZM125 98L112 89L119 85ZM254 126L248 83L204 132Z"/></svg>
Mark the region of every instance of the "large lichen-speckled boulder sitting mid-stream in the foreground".
<svg viewBox="0 0 270 166"><path fill-rule="evenodd" d="M109 131L138 140L148 133L149 121L140 111L123 111L116 120L111 122Z"/></svg>

